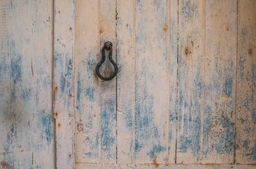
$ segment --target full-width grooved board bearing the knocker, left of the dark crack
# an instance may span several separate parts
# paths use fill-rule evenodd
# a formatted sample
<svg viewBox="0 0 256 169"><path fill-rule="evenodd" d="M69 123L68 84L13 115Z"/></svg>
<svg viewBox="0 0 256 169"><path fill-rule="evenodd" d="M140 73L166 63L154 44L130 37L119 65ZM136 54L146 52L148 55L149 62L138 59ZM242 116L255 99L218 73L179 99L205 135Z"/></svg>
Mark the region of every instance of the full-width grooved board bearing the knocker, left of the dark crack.
<svg viewBox="0 0 256 169"><path fill-rule="evenodd" d="M102 81L95 73L101 48L113 43L116 55L115 1L76 1L76 162L115 164L116 81ZM106 58L100 68L111 74Z"/></svg>

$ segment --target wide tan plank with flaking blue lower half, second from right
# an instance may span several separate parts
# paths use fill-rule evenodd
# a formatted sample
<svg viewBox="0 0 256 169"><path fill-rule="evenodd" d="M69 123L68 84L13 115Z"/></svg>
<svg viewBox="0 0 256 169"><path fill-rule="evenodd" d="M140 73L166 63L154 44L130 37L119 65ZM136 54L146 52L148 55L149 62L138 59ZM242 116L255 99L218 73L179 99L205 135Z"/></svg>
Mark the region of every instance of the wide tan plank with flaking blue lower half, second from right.
<svg viewBox="0 0 256 169"><path fill-rule="evenodd" d="M232 164L236 111L237 3L205 4L203 164Z"/></svg>

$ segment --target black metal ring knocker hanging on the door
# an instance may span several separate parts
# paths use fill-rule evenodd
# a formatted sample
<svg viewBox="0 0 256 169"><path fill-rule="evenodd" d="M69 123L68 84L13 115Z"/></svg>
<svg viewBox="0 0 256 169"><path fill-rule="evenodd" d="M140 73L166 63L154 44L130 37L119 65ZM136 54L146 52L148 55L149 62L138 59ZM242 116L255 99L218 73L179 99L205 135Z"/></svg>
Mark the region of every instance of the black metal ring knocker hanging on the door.
<svg viewBox="0 0 256 169"><path fill-rule="evenodd" d="M115 63L115 61L112 58L112 48L113 48L113 45L110 41L106 41L104 43L104 45L102 47L102 59L100 60L100 62L98 62L97 66L96 66L96 73L97 73L98 77L100 77L100 79L102 79L104 81L110 81L117 75L117 64ZM115 68L115 72L110 77L103 77L102 75L100 75L100 66L102 65L102 63L104 63L104 61L106 59L105 50L109 51L109 61L113 64L113 67Z"/></svg>

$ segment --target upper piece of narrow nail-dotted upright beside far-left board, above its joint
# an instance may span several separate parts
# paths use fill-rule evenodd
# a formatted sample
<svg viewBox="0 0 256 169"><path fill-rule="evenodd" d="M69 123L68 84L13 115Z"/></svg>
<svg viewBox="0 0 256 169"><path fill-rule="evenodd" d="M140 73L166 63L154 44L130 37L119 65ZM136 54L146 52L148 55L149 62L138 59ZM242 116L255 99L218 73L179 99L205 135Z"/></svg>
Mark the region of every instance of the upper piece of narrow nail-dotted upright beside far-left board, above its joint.
<svg viewBox="0 0 256 169"><path fill-rule="evenodd" d="M74 113L74 0L55 0L54 112L55 118Z"/></svg>

